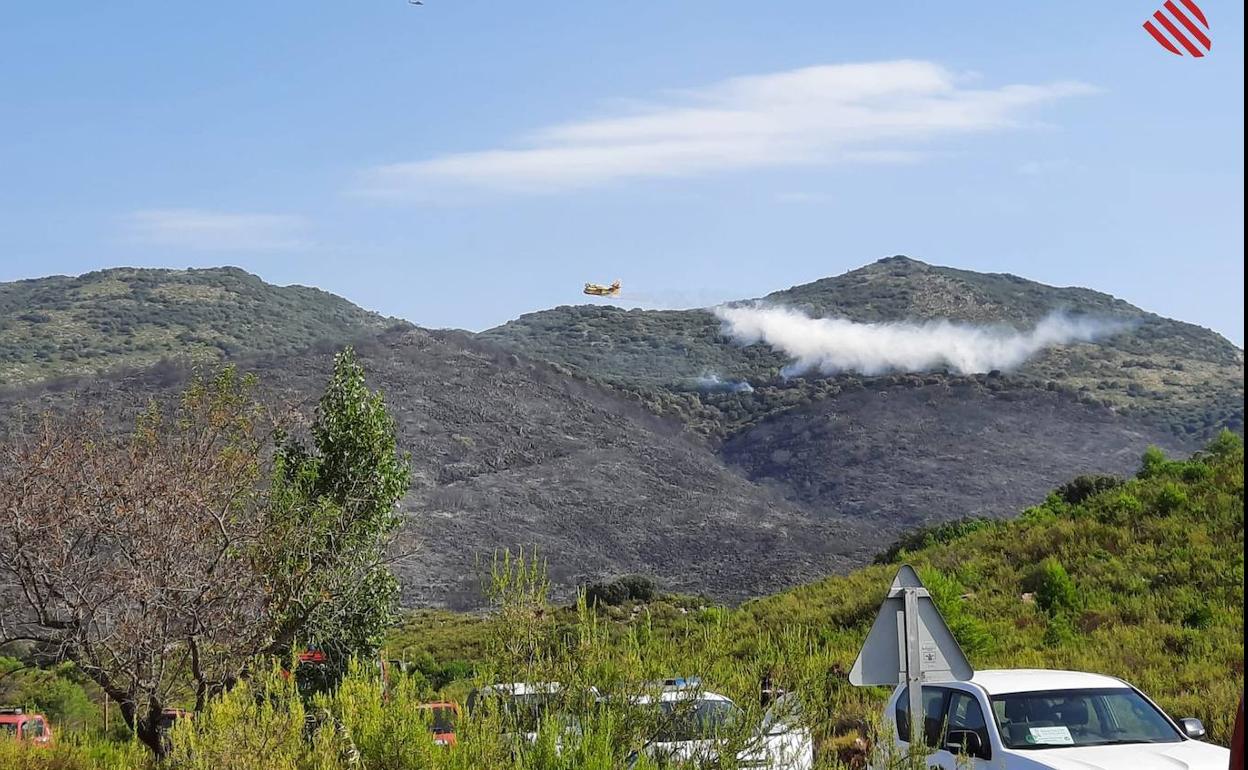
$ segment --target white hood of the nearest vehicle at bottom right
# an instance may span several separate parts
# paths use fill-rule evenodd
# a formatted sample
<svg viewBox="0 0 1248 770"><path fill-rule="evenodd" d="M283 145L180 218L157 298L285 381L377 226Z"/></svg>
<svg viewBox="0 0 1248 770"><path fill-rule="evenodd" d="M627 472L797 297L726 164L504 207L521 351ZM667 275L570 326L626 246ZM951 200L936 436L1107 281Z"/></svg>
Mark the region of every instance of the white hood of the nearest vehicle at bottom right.
<svg viewBox="0 0 1248 770"><path fill-rule="evenodd" d="M1018 751L1053 770L1227 770L1231 751L1198 740Z"/></svg>

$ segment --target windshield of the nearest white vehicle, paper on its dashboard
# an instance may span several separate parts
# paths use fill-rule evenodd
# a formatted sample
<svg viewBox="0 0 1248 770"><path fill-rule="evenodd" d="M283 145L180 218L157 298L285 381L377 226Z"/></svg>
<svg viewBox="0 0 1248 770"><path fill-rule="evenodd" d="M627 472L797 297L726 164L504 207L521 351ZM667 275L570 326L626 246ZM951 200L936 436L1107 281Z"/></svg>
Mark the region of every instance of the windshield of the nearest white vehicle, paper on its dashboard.
<svg viewBox="0 0 1248 770"><path fill-rule="evenodd" d="M996 695L992 715L1011 749L1183 740L1166 715L1129 688Z"/></svg>

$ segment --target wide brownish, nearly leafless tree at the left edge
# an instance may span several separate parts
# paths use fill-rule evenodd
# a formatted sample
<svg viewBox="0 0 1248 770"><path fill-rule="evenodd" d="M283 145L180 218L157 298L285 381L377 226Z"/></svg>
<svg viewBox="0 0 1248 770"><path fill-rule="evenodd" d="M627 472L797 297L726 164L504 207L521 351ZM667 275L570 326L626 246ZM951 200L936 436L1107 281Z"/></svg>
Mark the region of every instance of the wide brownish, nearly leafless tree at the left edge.
<svg viewBox="0 0 1248 770"><path fill-rule="evenodd" d="M367 394L353 358L338 363L336 381L349 369L352 392ZM393 432L387 443L379 398L369 406L383 436L351 470L381 457L393 472ZM359 585L388 575L406 465L398 492L376 500L389 518L369 510L361 524L313 488L317 452L275 452L272 437L232 369L192 383L176 408L150 408L131 432L82 414L22 431L0 449L0 643L76 663L161 754L170 703L202 708L257 655L316 638L318 616L349 615Z"/></svg>

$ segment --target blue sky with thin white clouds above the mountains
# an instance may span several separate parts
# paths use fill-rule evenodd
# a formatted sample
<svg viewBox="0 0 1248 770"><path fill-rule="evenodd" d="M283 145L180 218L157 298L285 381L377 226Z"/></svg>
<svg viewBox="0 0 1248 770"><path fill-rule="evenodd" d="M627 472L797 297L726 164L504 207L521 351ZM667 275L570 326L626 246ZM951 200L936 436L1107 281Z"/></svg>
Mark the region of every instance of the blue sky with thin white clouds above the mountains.
<svg viewBox="0 0 1248 770"><path fill-rule="evenodd" d="M1243 9L9 4L0 280L237 265L426 326L906 253L1243 344Z"/></svg>

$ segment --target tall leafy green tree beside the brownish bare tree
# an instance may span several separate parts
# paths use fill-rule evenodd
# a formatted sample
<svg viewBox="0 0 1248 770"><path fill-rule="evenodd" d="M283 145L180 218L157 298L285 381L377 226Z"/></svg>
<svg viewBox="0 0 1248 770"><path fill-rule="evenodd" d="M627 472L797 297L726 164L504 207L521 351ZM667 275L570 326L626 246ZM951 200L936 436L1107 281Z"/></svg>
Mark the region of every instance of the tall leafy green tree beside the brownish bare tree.
<svg viewBox="0 0 1248 770"><path fill-rule="evenodd" d="M287 655L322 651L332 680L351 658L376 655L394 621L398 583L387 548L409 465L351 348L334 358L311 433L311 447L288 439L275 463L273 515L301 535L273 565L277 582L296 594L277 639Z"/></svg>

